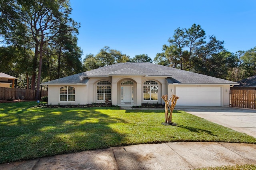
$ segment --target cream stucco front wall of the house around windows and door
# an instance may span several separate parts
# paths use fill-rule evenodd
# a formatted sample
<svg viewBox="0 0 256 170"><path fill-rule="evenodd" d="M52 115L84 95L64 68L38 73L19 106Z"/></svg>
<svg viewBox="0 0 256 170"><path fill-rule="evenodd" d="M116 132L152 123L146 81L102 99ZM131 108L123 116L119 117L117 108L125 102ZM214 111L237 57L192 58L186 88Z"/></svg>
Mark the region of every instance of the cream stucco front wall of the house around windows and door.
<svg viewBox="0 0 256 170"><path fill-rule="evenodd" d="M172 94L176 94L176 87L187 86L192 87L196 85L181 85L181 84L168 84L164 77L143 77L143 76L112 76L106 78L90 78L87 84L82 85L48 85L48 104L91 104L91 103L103 103L103 100L97 100L97 82L107 80L112 83L112 104L120 106L121 102L121 82L124 80L131 80L134 82L134 103L133 106L141 106L143 103L160 103L164 104L161 96L168 94L168 98ZM154 80L158 82L158 100L147 101L143 100L143 82L148 80ZM74 102L60 102L60 88L63 86L72 86L75 88L75 101ZM214 85L202 85L214 87ZM222 106L229 106L230 104L230 85L216 85L221 87L221 103Z"/></svg>

